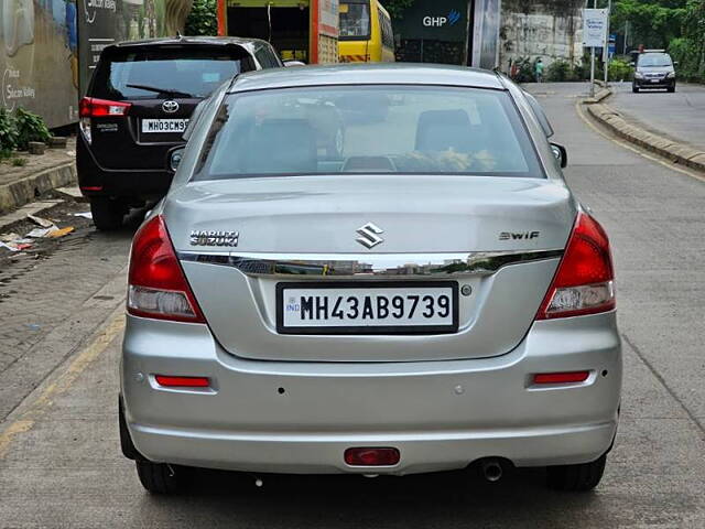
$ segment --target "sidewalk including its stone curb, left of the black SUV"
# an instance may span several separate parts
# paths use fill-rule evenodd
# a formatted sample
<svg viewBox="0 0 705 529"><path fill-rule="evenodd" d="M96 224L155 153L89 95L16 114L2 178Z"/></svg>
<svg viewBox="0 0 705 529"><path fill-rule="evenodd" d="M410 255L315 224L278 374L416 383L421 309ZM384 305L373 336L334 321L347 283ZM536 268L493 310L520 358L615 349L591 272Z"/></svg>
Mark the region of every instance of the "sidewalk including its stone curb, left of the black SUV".
<svg viewBox="0 0 705 529"><path fill-rule="evenodd" d="M0 214L34 201L41 194L76 182L76 142L66 149L46 149L41 155L20 153L28 164L0 164Z"/></svg>

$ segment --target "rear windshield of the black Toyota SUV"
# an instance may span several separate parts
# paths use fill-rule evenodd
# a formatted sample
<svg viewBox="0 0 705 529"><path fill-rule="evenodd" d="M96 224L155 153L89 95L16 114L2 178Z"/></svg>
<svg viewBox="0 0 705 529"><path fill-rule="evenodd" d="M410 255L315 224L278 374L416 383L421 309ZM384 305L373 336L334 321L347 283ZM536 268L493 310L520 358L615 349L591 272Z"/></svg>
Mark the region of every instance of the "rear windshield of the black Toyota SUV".
<svg viewBox="0 0 705 529"><path fill-rule="evenodd" d="M149 99L167 97L176 90L178 97L203 98L240 71L246 52L210 48L152 48L119 51L100 61L91 96L101 99ZM130 85L152 87L137 88ZM159 89L166 90L159 93Z"/></svg>

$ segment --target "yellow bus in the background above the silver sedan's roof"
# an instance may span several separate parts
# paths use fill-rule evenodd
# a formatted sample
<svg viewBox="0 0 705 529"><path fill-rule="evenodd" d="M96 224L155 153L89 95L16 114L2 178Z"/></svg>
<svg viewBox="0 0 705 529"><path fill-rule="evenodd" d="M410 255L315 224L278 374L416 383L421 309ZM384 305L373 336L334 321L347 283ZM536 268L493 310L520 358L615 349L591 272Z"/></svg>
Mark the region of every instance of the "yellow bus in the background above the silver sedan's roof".
<svg viewBox="0 0 705 529"><path fill-rule="evenodd" d="M341 63L394 61L389 13L377 0L340 0L338 55Z"/></svg>

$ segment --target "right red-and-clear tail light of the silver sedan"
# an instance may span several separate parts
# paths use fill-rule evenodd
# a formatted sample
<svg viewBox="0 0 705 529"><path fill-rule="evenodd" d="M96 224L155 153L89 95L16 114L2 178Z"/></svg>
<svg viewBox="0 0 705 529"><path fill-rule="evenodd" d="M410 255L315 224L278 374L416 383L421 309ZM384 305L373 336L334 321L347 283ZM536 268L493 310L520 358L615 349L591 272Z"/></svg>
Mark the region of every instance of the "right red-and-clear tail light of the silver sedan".
<svg viewBox="0 0 705 529"><path fill-rule="evenodd" d="M603 227L579 212L536 320L595 314L615 309L609 240Z"/></svg>

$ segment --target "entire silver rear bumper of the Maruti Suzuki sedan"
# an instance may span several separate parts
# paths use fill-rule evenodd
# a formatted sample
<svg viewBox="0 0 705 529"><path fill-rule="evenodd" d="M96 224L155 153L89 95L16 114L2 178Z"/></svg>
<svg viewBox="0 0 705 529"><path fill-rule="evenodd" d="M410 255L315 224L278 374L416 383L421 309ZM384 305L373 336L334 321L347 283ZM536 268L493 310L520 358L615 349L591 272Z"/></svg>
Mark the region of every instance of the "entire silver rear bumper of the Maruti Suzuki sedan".
<svg viewBox="0 0 705 529"><path fill-rule="evenodd" d="M585 382L531 385L535 373L584 369ZM156 374L208 376L213 388L161 388ZM205 325L129 316L121 381L128 429L151 461L410 474L490 456L517 466L596 460L617 429L621 356L614 313L536 322L500 357L379 364L243 360ZM394 446L401 461L348 466L352 446Z"/></svg>

